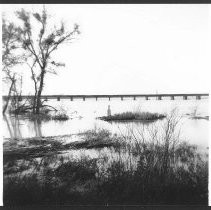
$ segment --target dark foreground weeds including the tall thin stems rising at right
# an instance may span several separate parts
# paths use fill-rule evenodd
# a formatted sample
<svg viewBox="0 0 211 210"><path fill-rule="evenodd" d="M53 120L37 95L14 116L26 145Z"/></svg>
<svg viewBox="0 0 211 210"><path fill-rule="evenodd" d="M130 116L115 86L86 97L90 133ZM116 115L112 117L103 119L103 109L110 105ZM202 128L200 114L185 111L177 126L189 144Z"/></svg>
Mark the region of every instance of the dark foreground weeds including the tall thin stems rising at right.
<svg viewBox="0 0 211 210"><path fill-rule="evenodd" d="M207 205L208 161L196 146L178 141L178 122L174 110L162 127L129 130L130 139L119 137L122 144L115 153L117 158L112 160L107 156L103 161L100 157L50 156L38 161L31 173L21 173L23 166L14 173L7 168L4 204ZM112 137L105 130L99 133L89 131L85 142ZM8 165L4 163L4 167Z"/></svg>

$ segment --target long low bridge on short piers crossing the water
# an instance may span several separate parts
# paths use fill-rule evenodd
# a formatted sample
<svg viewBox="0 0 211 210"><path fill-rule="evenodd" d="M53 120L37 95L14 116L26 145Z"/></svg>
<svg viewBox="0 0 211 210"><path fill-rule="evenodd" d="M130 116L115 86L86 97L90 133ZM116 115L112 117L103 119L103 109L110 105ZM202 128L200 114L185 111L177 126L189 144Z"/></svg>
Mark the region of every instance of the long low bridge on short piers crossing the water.
<svg viewBox="0 0 211 210"><path fill-rule="evenodd" d="M41 99L57 99L60 101L60 99L70 99L73 101L74 99L82 99L85 101L86 99L95 98L96 101L98 99L102 98L108 98L110 100L111 98L120 98L121 100L124 100L124 98L132 98L133 100L136 100L137 98L145 98L146 100L150 100L151 98L155 98L157 100L162 100L163 98L169 98L170 100L175 100L178 98L182 98L184 100L188 100L188 98L193 97L196 100L200 100L202 98L209 97L208 93L179 93L179 94L117 94L117 95L42 95ZM3 100L6 100L8 96L3 96ZM23 99L33 99L33 95L22 95L22 96L11 96L11 98L18 98L20 101Z"/></svg>

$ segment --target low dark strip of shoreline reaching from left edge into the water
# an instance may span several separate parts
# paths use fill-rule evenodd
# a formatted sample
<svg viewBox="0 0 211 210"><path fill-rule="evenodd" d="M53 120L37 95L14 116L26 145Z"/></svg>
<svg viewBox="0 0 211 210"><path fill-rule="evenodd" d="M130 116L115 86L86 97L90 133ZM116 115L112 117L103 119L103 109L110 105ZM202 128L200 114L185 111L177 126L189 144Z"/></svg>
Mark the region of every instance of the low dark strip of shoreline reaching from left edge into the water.
<svg viewBox="0 0 211 210"><path fill-rule="evenodd" d="M118 139L110 136L97 136L96 133L84 132L72 135L59 135L48 137L32 137L24 139L7 138L3 144L4 162L25 158L37 158L59 154L71 149L99 149L104 147L120 147ZM79 140L66 142L64 138L77 136Z"/></svg>

